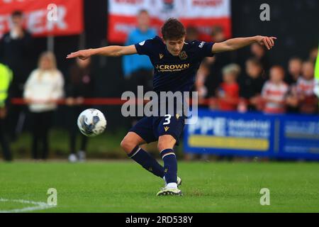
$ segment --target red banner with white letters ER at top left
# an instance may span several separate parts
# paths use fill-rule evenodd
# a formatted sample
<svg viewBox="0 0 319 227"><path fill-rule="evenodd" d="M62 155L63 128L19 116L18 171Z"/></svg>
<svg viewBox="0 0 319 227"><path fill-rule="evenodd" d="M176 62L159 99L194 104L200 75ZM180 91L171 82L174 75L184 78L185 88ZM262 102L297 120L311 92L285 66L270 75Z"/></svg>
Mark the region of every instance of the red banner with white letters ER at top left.
<svg viewBox="0 0 319 227"><path fill-rule="evenodd" d="M35 36L77 35L83 31L83 0L0 0L0 37L11 13L23 11L24 26Z"/></svg>

